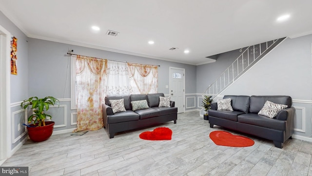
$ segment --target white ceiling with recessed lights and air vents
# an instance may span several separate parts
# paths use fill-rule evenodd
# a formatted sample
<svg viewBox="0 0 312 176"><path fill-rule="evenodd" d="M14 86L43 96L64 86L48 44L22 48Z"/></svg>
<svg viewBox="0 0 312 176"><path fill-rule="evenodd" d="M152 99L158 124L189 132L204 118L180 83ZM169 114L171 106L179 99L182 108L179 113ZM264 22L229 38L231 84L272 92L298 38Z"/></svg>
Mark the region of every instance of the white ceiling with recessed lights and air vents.
<svg viewBox="0 0 312 176"><path fill-rule="evenodd" d="M0 0L0 10L31 38L192 65L312 33L312 0ZM276 21L285 14L288 21Z"/></svg>

